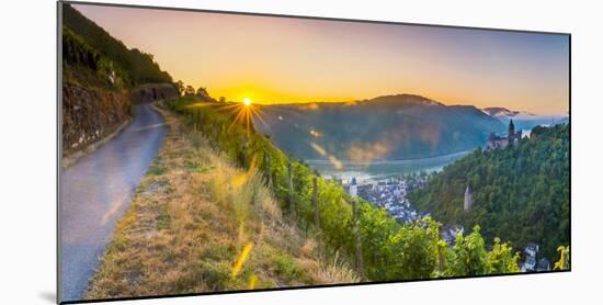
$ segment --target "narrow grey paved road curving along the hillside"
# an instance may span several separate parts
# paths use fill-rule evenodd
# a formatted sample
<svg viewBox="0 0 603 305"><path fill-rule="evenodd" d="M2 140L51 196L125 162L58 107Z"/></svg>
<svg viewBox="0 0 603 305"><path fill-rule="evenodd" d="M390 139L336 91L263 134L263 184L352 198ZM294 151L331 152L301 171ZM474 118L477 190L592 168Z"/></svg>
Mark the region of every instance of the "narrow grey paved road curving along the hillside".
<svg viewBox="0 0 603 305"><path fill-rule="evenodd" d="M149 104L115 138L60 173L60 298L80 300L116 222L167 134Z"/></svg>

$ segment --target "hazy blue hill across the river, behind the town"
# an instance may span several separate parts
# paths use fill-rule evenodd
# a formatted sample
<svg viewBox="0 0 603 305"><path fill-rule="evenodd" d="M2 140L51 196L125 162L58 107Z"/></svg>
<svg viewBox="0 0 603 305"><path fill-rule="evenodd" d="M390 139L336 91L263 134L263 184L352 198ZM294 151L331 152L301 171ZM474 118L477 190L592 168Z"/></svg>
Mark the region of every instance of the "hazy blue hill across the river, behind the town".
<svg viewBox="0 0 603 305"><path fill-rule="evenodd" d="M483 145L504 125L475 106L412 95L260 106L255 127L297 158L374 161L447 155Z"/></svg>

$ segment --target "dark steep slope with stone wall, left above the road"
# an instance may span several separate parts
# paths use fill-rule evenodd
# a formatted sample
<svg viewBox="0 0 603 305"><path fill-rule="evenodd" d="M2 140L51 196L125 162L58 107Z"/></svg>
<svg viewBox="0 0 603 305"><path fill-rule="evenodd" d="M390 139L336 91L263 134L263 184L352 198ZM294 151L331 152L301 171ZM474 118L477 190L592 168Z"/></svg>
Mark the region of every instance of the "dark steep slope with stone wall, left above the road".
<svg viewBox="0 0 603 305"><path fill-rule="evenodd" d="M61 144L69 157L125 126L133 99L157 100L177 91L151 55L128 49L70 4L62 3L61 10ZM155 84L147 88L147 82Z"/></svg>

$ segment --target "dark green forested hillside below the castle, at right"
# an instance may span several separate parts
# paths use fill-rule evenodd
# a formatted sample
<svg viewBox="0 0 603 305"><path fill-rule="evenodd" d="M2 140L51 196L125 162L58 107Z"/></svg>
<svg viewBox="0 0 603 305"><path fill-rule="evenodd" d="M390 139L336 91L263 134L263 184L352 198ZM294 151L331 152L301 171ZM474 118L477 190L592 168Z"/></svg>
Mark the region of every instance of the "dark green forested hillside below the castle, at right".
<svg viewBox="0 0 603 305"><path fill-rule="evenodd" d="M531 138L491 152L476 150L410 194L411 203L445 224L481 226L489 240L541 245L547 258L569 244L569 124L535 127ZM473 206L464 211L464 192Z"/></svg>

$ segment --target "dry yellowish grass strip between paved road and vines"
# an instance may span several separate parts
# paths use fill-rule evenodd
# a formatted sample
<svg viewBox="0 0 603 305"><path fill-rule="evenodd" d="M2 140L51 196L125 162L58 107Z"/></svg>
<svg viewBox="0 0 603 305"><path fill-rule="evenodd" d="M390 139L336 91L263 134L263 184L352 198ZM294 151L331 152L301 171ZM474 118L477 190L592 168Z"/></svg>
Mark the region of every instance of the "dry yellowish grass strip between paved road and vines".
<svg viewBox="0 0 603 305"><path fill-rule="evenodd" d="M170 127L84 298L357 282L283 221L258 171L241 171L202 135Z"/></svg>

